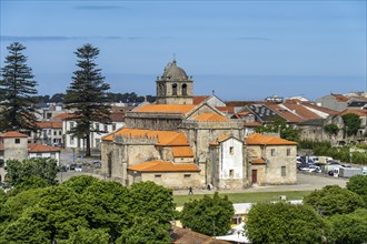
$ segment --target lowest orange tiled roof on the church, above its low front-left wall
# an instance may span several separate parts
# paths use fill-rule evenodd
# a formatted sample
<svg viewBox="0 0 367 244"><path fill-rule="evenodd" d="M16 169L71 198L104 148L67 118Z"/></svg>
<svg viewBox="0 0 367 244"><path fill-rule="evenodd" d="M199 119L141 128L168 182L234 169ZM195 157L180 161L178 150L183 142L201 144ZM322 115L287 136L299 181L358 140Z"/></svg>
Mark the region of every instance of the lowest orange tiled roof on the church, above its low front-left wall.
<svg viewBox="0 0 367 244"><path fill-rule="evenodd" d="M195 163L172 163L167 161L148 161L145 163L129 166L130 171L138 172L199 172Z"/></svg>

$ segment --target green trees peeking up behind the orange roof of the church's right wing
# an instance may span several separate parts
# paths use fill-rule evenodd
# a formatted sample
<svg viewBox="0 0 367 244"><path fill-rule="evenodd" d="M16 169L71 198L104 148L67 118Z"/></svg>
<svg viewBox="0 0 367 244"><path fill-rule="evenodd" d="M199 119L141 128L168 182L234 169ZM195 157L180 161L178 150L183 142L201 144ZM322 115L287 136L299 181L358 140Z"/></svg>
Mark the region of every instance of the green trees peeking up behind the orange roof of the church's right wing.
<svg viewBox="0 0 367 244"><path fill-rule="evenodd" d="M279 118L279 116L276 116L271 124L266 124L265 126L256 128L255 131L258 133L280 132L281 139L286 139L286 140L295 141L295 142L299 141L299 132L300 132L299 129L296 129L296 128L287 124L286 120L282 118Z"/></svg>

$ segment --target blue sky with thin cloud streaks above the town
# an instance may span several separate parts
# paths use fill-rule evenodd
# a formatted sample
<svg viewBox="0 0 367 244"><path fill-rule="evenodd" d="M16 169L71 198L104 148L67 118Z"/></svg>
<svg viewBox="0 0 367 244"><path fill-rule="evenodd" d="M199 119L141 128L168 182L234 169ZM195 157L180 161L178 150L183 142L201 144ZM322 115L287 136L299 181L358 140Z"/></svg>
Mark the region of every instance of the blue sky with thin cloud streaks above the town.
<svg viewBox="0 0 367 244"><path fill-rule="evenodd" d="M176 54L195 94L260 100L365 91L366 1L4 1L7 47L27 47L40 94L65 92L85 43L112 92L155 94Z"/></svg>

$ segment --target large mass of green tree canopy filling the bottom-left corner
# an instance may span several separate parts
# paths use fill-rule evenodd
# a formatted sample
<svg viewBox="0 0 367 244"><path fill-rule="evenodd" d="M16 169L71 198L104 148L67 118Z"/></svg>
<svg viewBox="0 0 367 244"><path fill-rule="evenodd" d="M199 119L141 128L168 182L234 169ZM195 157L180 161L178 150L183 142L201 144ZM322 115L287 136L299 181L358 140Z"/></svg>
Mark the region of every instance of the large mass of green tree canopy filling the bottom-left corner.
<svg viewBox="0 0 367 244"><path fill-rule="evenodd" d="M125 187L81 175L0 204L0 244L171 243L172 192L152 182Z"/></svg>

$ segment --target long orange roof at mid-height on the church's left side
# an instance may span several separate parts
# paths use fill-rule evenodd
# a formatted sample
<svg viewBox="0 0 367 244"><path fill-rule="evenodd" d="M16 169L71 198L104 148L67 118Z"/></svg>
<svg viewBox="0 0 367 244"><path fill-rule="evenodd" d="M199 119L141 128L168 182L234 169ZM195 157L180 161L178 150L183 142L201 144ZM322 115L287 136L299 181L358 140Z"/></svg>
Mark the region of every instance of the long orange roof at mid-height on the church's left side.
<svg viewBox="0 0 367 244"><path fill-rule="evenodd" d="M120 129L115 133L102 138L103 141L112 141L116 135L127 135L131 138L158 138L157 145L189 145L184 132L177 131L150 131L140 129Z"/></svg>

